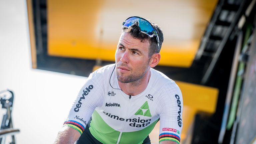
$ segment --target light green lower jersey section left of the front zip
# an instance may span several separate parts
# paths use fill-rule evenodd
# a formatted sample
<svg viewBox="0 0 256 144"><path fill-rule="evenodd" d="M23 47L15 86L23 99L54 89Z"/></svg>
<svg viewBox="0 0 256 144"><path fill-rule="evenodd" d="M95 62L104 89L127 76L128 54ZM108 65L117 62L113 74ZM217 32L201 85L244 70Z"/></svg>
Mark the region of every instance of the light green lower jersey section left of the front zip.
<svg viewBox="0 0 256 144"><path fill-rule="evenodd" d="M120 132L111 128L98 114L94 111L92 114L92 121L90 124L91 134L100 142L104 144L117 143Z"/></svg>

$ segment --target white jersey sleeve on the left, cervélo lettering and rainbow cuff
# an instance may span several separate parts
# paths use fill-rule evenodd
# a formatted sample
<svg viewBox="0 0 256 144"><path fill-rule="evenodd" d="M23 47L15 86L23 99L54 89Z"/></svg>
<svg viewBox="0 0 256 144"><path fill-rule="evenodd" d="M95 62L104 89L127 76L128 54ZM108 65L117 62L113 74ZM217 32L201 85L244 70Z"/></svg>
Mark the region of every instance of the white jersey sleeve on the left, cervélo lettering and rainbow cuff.
<svg viewBox="0 0 256 144"><path fill-rule="evenodd" d="M101 76L91 73L86 83L79 91L63 126L76 129L83 133L91 115L96 107L102 106L104 102L103 86Z"/></svg>

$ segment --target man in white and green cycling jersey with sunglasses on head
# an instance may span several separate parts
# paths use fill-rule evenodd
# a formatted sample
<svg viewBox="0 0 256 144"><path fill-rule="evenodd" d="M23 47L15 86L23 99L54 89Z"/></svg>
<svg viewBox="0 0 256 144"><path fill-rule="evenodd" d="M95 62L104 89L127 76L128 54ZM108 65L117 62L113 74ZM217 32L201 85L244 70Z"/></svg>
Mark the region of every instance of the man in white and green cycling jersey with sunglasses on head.
<svg viewBox="0 0 256 144"><path fill-rule="evenodd" d="M159 118L160 144L180 143L181 91L152 69L160 60L162 30L141 17L126 19L122 29L116 63L90 74L55 144L147 143Z"/></svg>

